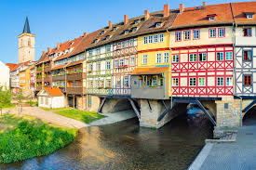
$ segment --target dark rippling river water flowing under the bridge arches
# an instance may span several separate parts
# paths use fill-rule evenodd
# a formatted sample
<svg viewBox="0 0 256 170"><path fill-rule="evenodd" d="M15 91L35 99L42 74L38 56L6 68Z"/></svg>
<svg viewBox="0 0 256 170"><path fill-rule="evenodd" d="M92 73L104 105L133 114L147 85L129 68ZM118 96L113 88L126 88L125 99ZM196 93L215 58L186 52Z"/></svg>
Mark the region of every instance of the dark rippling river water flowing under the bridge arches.
<svg viewBox="0 0 256 170"><path fill-rule="evenodd" d="M180 116L158 130L140 127L134 118L81 129L74 143L53 154L0 164L0 169L183 170L211 137L206 118Z"/></svg>

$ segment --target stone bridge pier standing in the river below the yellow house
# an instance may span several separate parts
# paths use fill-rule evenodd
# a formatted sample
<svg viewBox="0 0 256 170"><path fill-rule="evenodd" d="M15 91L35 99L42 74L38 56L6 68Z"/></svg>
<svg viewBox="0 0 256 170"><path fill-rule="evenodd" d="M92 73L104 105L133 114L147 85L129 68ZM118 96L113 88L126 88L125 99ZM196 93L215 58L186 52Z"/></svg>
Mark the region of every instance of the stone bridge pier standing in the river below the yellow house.
<svg viewBox="0 0 256 170"><path fill-rule="evenodd" d="M157 121L159 116L168 109L170 105L169 100L158 99L140 99L141 106L141 120L140 125L144 127L160 128L167 124L170 120L186 112L188 103L176 103L173 108L168 111L161 121Z"/></svg>

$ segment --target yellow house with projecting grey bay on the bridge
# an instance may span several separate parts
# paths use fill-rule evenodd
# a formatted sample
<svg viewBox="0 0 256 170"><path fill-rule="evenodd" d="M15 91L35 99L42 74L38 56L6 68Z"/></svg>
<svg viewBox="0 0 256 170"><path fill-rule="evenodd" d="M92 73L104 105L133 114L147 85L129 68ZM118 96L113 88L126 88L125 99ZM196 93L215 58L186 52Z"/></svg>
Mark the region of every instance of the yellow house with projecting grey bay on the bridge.
<svg viewBox="0 0 256 170"><path fill-rule="evenodd" d="M138 37L138 68L132 72L132 98L170 96L169 33Z"/></svg>

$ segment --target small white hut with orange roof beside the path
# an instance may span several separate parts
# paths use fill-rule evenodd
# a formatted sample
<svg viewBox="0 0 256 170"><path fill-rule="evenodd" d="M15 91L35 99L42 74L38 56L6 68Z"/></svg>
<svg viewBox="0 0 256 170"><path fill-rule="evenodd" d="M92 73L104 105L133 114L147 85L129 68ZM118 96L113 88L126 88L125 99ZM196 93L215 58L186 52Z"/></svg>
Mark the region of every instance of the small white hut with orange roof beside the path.
<svg viewBox="0 0 256 170"><path fill-rule="evenodd" d="M65 97L60 88L44 87L38 95L38 106L43 108L63 108L65 107Z"/></svg>

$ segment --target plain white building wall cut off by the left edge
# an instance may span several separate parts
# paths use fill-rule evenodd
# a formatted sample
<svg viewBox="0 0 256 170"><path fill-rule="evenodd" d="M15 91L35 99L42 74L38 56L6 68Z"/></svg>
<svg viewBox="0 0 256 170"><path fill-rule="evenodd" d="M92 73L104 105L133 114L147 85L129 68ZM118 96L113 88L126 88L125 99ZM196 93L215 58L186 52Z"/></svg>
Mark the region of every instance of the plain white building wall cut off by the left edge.
<svg viewBox="0 0 256 170"><path fill-rule="evenodd" d="M5 90L9 89L9 68L2 61L0 61L0 86Z"/></svg>

